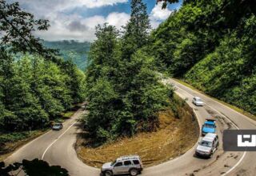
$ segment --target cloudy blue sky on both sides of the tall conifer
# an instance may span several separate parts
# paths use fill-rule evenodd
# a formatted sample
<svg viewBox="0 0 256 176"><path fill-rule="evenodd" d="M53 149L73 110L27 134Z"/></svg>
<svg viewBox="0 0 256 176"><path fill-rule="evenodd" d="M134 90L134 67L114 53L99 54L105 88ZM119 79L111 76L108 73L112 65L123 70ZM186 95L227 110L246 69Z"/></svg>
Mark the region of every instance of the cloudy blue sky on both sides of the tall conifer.
<svg viewBox="0 0 256 176"><path fill-rule="evenodd" d="M98 24L108 22L117 28L126 25L130 18L131 0L7 0L19 2L23 10L33 13L36 18L50 20L50 29L37 32L38 37L56 40L79 40L92 42ZM168 18L181 2L171 4L166 10L155 0L143 0L147 6L151 26L156 28Z"/></svg>

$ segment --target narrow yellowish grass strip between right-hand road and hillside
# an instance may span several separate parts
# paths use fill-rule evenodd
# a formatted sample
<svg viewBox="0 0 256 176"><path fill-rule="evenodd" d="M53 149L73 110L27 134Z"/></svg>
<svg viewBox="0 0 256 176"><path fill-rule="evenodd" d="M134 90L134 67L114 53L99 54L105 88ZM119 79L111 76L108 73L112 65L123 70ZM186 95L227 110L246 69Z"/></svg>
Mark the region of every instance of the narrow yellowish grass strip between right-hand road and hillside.
<svg viewBox="0 0 256 176"><path fill-rule="evenodd" d="M241 108L238 108L237 106L230 105L229 103L223 102L222 100L219 100L219 99L217 99L217 98L211 97L210 95L205 94L205 93L202 92L201 90L196 89L194 86L191 86L190 84L186 83L185 80L180 80L180 79L175 79L175 78L173 78L173 79L174 79L175 81L181 83L182 85L189 87L189 88L192 89L192 90L195 90L195 91L197 91L197 92L200 92L201 94L204 94L204 95L206 95L207 97L213 98L215 101L220 102L220 103L222 103L223 105L230 107L232 110L235 110L235 111L237 111L238 113L241 113L241 114L243 114L243 115L246 115L248 118L251 118L251 119L253 119L253 120L256 120L256 116L254 116L253 114L250 114L250 113L246 112L245 110L242 110Z"/></svg>

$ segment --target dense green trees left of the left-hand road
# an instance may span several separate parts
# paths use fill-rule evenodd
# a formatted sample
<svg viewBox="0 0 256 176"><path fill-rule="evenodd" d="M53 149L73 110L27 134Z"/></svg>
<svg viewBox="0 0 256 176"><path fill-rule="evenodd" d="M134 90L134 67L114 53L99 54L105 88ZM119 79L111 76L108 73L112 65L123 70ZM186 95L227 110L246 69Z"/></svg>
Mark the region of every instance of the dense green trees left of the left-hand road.
<svg viewBox="0 0 256 176"><path fill-rule="evenodd" d="M0 62L2 130L43 127L84 98L84 74L72 64L32 55L14 61L7 54Z"/></svg>

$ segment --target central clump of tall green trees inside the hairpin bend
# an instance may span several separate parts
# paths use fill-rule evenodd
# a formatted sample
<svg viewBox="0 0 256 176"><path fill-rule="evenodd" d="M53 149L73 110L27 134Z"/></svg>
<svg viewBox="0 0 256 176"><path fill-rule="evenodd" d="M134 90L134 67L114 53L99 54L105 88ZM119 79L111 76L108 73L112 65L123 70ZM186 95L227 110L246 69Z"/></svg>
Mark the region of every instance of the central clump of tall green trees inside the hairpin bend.
<svg viewBox="0 0 256 176"><path fill-rule="evenodd" d="M141 0L131 2L131 18L119 34L114 26L98 26L86 71L89 114L86 129L99 142L138 131L154 130L159 110L173 91L154 71L154 58L143 49L150 24Z"/></svg>

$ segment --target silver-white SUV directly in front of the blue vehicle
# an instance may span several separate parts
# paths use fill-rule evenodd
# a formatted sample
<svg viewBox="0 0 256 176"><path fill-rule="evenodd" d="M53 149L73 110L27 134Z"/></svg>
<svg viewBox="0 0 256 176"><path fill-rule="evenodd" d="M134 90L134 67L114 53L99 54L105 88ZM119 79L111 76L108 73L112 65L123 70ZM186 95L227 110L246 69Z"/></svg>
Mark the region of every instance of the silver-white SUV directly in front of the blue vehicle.
<svg viewBox="0 0 256 176"><path fill-rule="evenodd" d="M202 140L198 143L198 147L195 151L197 156L209 157L214 154L218 148L218 135L208 133Z"/></svg>

